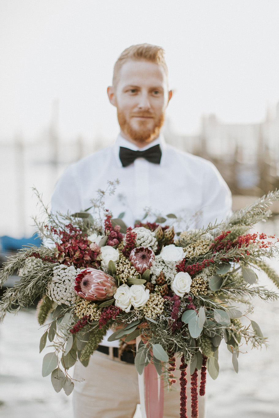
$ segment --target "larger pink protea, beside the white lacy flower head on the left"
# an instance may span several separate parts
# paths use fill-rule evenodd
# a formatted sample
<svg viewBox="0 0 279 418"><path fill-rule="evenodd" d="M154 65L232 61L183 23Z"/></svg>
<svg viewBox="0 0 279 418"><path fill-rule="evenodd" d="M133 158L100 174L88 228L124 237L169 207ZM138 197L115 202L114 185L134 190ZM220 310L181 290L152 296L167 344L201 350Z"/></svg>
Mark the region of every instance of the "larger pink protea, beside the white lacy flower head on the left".
<svg viewBox="0 0 279 418"><path fill-rule="evenodd" d="M74 290L87 301L111 299L117 289L115 279L102 270L85 268L75 279Z"/></svg>

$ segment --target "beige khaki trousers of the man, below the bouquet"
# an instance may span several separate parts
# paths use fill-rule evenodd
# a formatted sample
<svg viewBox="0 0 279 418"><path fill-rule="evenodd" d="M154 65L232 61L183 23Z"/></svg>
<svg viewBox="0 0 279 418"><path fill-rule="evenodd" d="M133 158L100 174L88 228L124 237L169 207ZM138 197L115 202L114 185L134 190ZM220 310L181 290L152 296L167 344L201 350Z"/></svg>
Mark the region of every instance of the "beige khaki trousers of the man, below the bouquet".
<svg viewBox="0 0 279 418"><path fill-rule="evenodd" d="M179 359L177 367L179 367ZM164 392L164 418L179 418L180 372L174 372L174 390ZM134 364L120 362L112 355L95 352L87 367L76 363L74 379L74 418L133 418L140 403L138 373ZM191 416L190 378L187 376L187 415ZM199 380L200 381L200 380ZM199 389L199 387L198 387ZM199 418L205 418L205 397L198 396ZM157 418L157 417L151 417Z"/></svg>

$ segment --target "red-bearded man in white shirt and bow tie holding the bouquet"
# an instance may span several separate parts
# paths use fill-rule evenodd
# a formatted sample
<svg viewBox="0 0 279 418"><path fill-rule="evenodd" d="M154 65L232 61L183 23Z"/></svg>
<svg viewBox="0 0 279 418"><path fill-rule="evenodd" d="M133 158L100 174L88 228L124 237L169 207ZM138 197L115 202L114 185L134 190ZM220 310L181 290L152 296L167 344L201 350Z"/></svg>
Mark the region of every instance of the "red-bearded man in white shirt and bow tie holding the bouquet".
<svg viewBox="0 0 279 418"><path fill-rule="evenodd" d="M142 44L123 51L115 63L113 85L108 87L120 135L115 145L67 169L54 191L54 211L89 207L96 190L105 190L108 180L118 178L116 193L105 197L106 207L114 217L125 212L128 226L143 218L146 207L156 214L174 213L188 224L199 212L200 218L191 225L195 227L221 221L229 214L230 191L216 168L175 150L160 135L172 96L167 75L162 48ZM110 344L102 344L87 368L76 366L75 379L84 378L84 382L75 384L75 417L132 418L138 403L135 367L117 361ZM200 402L200 417L205 416L204 409ZM166 393L164 418L178 416L179 392Z"/></svg>

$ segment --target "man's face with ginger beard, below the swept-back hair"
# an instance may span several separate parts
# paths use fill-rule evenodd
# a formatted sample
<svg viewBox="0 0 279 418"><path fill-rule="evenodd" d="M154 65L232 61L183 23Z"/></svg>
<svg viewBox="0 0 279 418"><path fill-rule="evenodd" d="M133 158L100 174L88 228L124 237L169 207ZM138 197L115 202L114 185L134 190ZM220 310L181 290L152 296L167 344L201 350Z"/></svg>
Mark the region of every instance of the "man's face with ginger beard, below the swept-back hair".
<svg viewBox="0 0 279 418"><path fill-rule="evenodd" d="M121 135L144 146L158 137L171 98L164 69L146 60L126 61L116 86L108 87L117 107Z"/></svg>

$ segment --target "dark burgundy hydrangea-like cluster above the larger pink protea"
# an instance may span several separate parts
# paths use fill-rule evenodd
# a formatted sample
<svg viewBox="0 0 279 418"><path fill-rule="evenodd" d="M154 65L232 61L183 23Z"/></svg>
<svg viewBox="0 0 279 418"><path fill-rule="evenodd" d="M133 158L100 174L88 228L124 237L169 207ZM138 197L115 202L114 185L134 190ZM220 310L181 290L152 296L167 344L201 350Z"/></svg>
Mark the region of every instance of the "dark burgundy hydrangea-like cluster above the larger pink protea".
<svg viewBox="0 0 279 418"><path fill-rule="evenodd" d="M54 256L56 260L65 265L74 265L77 268L94 265L100 250L93 251L89 247L87 237L82 237L82 231L72 224L65 225L66 231L57 231L51 227L51 232L60 238L56 242ZM46 229L48 229L46 225ZM96 250L96 249L95 249Z"/></svg>

